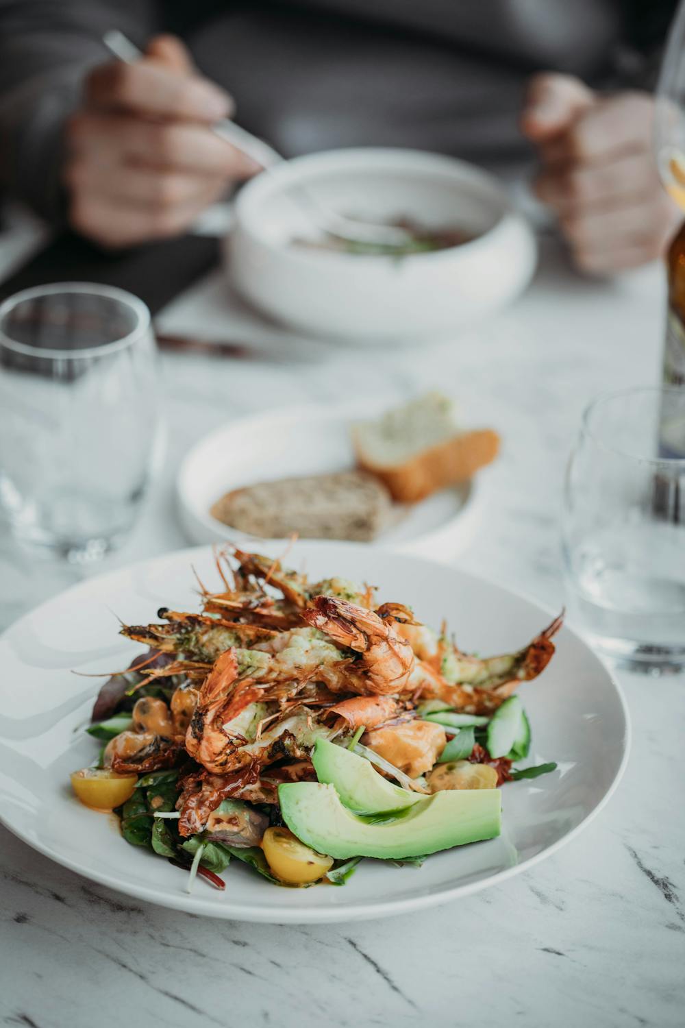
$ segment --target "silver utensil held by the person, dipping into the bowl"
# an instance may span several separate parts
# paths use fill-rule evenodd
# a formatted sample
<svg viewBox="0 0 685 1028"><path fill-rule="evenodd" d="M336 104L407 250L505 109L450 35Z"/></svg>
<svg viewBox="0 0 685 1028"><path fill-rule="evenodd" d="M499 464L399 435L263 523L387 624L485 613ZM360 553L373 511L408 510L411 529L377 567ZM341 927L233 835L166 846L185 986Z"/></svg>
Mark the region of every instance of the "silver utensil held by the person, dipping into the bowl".
<svg viewBox="0 0 685 1028"><path fill-rule="evenodd" d="M144 57L143 52L118 29L106 32L103 36L103 42L115 58L125 64L136 64ZM274 150L264 140L253 136L252 133L241 128L229 118L215 121L212 125L212 132L252 157L253 160L262 166L265 172L269 172L271 168L283 163L286 160L277 150ZM321 205L316 197L302 187L292 189L291 194L298 205L306 211L311 224L335 238L343 240L346 243L364 243L398 249L412 243L411 232L404 228L397 228L394 225L377 225L344 217Z"/></svg>

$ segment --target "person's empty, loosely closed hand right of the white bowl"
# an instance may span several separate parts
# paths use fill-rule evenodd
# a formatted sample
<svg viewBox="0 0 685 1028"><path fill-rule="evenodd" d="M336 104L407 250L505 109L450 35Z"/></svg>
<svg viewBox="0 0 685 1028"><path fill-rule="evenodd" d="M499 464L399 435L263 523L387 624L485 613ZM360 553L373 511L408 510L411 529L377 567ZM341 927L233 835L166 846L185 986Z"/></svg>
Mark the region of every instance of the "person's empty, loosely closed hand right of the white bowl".
<svg viewBox="0 0 685 1028"><path fill-rule="evenodd" d="M658 257L683 220L658 178L653 117L647 94L602 98L557 74L529 84L521 128L542 164L535 192L584 271L610 274Z"/></svg>

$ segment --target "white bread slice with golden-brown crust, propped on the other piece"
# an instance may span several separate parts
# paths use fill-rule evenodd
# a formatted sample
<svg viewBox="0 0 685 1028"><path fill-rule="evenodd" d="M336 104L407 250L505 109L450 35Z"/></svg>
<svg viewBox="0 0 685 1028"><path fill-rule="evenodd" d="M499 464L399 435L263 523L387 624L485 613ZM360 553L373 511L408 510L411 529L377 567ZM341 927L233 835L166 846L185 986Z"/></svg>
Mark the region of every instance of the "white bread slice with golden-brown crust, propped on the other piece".
<svg viewBox="0 0 685 1028"><path fill-rule="evenodd" d="M428 393L354 425L352 444L359 468L384 482L393 500L416 503L494 461L499 436L492 429L460 432L451 401Z"/></svg>

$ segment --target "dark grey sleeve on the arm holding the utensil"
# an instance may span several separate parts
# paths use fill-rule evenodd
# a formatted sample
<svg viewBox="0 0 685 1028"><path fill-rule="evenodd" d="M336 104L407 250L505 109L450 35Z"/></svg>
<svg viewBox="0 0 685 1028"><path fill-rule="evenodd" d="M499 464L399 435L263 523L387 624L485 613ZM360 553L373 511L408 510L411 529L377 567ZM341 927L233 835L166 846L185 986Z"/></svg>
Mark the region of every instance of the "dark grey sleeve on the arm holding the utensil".
<svg viewBox="0 0 685 1028"><path fill-rule="evenodd" d="M63 127L87 70L120 29L138 45L157 30L152 0L0 0L0 192L48 221L63 216Z"/></svg>

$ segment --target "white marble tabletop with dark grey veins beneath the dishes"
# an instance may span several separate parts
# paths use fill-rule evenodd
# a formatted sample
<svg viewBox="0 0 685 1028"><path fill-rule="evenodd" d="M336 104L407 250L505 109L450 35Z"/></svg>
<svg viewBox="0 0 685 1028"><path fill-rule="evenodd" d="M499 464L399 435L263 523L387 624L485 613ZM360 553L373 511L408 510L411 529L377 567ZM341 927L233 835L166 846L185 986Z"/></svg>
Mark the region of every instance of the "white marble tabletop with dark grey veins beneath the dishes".
<svg viewBox="0 0 685 1028"><path fill-rule="evenodd" d="M9 244L3 253L7 265ZM164 327L206 324L240 341L224 295L217 274L177 301ZM580 412L602 390L657 380L662 325L659 267L591 282L546 238L528 293L450 343L351 351L266 333L242 359L165 355L165 466L103 570L185 544L175 469L225 419L447 387L471 421L500 429L504 446L483 476L477 535L436 556L560 604L561 483ZM32 562L1 537L0 624L78 575ZM609 806L532 871L424 913L302 927L205 920L91 884L0 830L4 1023L682 1025L685 680L619 677L634 748Z"/></svg>

